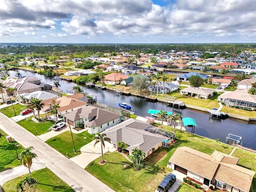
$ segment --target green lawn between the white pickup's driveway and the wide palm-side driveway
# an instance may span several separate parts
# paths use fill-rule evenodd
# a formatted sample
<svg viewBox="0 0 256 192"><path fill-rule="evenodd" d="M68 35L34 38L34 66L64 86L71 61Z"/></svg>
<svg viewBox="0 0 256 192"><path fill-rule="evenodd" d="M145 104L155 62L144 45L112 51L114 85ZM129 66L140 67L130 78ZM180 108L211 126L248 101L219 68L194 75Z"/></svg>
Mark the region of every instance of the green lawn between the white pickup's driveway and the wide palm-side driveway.
<svg viewBox="0 0 256 192"><path fill-rule="evenodd" d="M94 135L88 133L88 131L84 131L79 134L73 134L74 144L77 153L74 154L73 142L70 131L66 131L58 136L50 138L46 141L47 144L52 146L52 148L56 149L58 152L66 156L66 152L70 155L69 158L74 157L76 155L81 154L80 148L89 142L92 141Z"/></svg>

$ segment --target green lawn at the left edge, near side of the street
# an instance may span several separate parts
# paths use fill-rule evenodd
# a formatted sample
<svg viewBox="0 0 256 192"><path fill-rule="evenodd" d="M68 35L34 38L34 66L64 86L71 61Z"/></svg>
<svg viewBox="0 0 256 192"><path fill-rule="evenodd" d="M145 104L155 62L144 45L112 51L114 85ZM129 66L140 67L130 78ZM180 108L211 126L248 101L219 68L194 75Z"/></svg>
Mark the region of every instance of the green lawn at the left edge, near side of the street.
<svg viewBox="0 0 256 192"><path fill-rule="evenodd" d="M3 130L0 129L3 136L0 138L0 172L6 169L10 169L20 165L18 161L14 142L8 143L6 136L8 136ZM23 150L22 146L16 143L16 149L18 154Z"/></svg>

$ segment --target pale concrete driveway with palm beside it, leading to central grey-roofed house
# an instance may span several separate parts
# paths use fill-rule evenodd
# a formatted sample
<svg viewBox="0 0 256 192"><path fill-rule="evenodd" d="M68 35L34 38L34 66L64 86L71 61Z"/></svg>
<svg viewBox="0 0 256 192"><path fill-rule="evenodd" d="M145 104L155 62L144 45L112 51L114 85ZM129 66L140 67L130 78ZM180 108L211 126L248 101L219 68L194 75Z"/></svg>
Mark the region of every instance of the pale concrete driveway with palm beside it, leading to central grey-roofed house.
<svg viewBox="0 0 256 192"><path fill-rule="evenodd" d="M80 166L81 168L86 168L90 162L101 156L101 146L100 143L96 144L94 147L95 141L92 141L88 143L87 145L81 147L81 154L70 158L75 164ZM105 142L105 149L103 149L103 153L106 152L113 152L115 151L114 148L112 148L111 144L108 142ZM104 155L103 155L104 156Z"/></svg>

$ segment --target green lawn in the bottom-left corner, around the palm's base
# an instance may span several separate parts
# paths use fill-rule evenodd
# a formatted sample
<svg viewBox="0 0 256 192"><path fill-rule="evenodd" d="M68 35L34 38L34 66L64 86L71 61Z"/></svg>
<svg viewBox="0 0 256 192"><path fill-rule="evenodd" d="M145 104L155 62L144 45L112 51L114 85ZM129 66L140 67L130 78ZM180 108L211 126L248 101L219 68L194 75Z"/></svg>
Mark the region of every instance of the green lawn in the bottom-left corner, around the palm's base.
<svg viewBox="0 0 256 192"><path fill-rule="evenodd" d="M28 174L4 183L2 186L3 192L16 192L16 184L26 176ZM33 192L74 192L68 184L58 178L48 168L32 172L32 177L37 180L37 183L33 186Z"/></svg>

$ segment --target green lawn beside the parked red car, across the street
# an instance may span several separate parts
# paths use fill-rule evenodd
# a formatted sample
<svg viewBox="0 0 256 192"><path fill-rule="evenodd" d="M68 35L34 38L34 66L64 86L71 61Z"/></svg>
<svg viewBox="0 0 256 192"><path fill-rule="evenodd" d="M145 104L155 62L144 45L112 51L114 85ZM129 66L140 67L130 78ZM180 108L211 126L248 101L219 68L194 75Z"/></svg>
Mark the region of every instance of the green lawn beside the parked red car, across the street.
<svg viewBox="0 0 256 192"><path fill-rule="evenodd" d="M33 116L28 117L28 120L25 118L17 123L34 135L36 135L36 132L38 135L46 133L47 130L55 123L54 120L36 123L32 118Z"/></svg>

